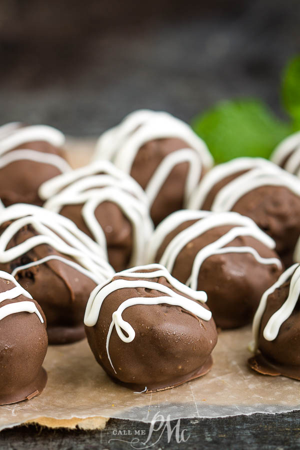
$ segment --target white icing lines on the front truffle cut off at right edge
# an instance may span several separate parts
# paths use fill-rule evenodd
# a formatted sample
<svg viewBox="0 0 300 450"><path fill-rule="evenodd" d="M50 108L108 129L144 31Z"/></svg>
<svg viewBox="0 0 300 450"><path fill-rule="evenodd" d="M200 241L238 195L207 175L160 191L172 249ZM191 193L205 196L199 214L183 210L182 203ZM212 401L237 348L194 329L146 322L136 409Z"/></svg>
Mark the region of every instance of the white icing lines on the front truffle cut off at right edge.
<svg viewBox="0 0 300 450"><path fill-rule="evenodd" d="M300 265L298 263L293 264L287 270L285 270L285 272L283 272L279 276L278 280L262 294L252 324L253 343L250 345L250 348L253 352L257 351L259 327L262 315L266 308L267 298L271 293L274 292L275 289L282 286L282 284L284 284L290 276L291 280L287 299L282 304L282 306L269 318L266 326L263 329L263 337L266 340L274 340L276 338L280 326L290 316L295 307L300 294Z"/></svg>

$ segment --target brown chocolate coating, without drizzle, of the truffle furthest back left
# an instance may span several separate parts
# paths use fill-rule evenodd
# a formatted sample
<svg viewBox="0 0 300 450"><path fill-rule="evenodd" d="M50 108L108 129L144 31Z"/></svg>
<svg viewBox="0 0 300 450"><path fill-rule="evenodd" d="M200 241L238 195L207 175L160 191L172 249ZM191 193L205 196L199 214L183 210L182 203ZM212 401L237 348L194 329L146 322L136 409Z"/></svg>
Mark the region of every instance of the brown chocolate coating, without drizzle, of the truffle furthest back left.
<svg viewBox="0 0 300 450"><path fill-rule="evenodd" d="M45 141L25 142L10 151L17 149L32 149L64 158L60 148ZM58 167L45 162L29 159L12 161L0 168L0 199L4 206L13 203L30 203L41 206L43 201L38 195L39 186L60 173Z"/></svg>

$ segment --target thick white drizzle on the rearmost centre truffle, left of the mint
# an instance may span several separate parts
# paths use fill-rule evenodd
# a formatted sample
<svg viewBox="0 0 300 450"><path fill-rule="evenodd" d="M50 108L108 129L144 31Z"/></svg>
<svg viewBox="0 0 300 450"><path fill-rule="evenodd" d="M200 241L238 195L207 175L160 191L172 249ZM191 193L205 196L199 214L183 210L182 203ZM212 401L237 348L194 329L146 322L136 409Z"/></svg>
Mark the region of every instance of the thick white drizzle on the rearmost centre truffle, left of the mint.
<svg viewBox="0 0 300 450"><path fill-rule="evenodd" d="M186 123L167 112L137 110L127 115L119 125L99 137L94 159L110 159L117 167L130 173L134 158L143 144L153 139L171 137L183 140L190 148L181 148L165 156L152 174L145 192L152 204L174 166L188 162L184 191L186 203L200 178L202 165L210 168L213 159L204 141Z"/></svg>

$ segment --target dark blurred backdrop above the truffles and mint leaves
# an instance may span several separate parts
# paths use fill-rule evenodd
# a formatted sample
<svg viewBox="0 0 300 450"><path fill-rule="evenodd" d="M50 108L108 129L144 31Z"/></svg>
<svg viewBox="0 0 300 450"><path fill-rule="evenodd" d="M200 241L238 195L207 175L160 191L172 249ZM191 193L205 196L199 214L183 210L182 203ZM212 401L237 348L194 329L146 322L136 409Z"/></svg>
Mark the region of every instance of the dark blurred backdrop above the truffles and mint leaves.
<svg viewBox="0 0 300 450"><path fill-rule="evenodd" d="M261 97L282 114L299 0L0 0L0 123L97 135L140 107L184 120Z"/></svg>

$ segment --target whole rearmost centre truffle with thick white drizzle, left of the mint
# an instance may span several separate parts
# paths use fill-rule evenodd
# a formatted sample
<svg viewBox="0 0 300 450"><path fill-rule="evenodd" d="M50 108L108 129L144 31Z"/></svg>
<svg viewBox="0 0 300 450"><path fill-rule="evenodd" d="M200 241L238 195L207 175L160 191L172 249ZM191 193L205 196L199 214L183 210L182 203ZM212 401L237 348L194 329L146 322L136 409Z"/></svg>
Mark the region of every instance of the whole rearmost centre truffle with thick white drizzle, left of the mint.
<svg viewBox="0 0 300 450"><path fill-rule="evenodd" d="M95 159L110 159L145 190L157 225L186 201L213 159L205 143L166 112L138 110L103 133Z"/></svg>

